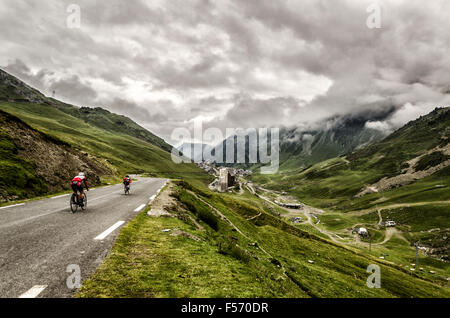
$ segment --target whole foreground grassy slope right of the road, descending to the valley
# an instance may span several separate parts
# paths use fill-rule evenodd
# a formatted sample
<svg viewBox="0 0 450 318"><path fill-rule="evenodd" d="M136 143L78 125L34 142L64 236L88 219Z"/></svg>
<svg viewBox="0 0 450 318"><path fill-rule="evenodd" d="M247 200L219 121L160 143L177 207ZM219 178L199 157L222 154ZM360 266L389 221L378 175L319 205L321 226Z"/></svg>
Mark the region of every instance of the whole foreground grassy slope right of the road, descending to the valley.
<svg viewBox="0 0 450 318"><path fill-rule="evenodd" d="M144 211L122 229L111 254L77 297L450 297L433 277L419 278L289 225L258 199L249 205L249 198L210 193L186 182L177 187L180 206L188 210L175 214L195 217L207 208L192 194L187 196L189 190L208 200L244 235L220 219L218 230L199 219L205 226L201 231L180 217L151 218ZM255 215L260 216L250 219ZM167 228L201 241L162 232ZM381 289L365 285L366 268L373 263L381 267Z"/></svg>

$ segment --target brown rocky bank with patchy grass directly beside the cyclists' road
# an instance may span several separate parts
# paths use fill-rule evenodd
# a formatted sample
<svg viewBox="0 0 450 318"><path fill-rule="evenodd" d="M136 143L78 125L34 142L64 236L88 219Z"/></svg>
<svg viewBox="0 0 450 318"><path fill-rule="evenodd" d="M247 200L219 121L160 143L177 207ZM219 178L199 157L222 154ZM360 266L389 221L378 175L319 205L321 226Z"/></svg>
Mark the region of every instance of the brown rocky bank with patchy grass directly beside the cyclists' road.
<svg viewBox="0 0 450 318"><path fill-rule="evenodd" d="M65 190L81 170L93 186L100 184L100 175L113 175L104 162L1 110L0 127L0 202Z"/></svg>

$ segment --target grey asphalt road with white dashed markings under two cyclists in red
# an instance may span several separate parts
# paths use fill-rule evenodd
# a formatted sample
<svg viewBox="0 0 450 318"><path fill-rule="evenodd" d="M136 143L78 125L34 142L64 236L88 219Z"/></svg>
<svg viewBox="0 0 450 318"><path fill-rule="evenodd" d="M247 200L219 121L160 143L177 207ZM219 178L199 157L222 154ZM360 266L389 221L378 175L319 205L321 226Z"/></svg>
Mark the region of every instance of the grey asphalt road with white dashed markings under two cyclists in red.
<svg viewBox="0 0 450 318"><path fill-rule="evenodd" d="M121 184L92 189L87 209L75 214L70 195L0 208L0 297L72 296L77 266L86 279L165 182L141 178L130 195Z"/></svg>

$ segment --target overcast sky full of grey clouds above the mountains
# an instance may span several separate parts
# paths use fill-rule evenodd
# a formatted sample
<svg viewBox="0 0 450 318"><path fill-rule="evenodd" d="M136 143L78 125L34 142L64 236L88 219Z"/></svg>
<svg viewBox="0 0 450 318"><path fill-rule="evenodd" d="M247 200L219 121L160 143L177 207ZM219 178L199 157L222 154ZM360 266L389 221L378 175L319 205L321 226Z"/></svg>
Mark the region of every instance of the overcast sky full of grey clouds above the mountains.
<svg viewBox="0 0 450 318"><path fill-rule="evenodd" d="M366 25L372 3L381 28ZM0 67L168 142L196 119L307 127L394 107L367 124L393 129L450 105L449 31L448 0L2 0Z"/></svg>

